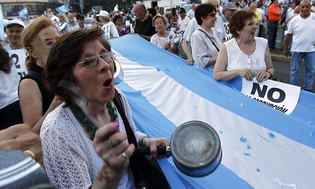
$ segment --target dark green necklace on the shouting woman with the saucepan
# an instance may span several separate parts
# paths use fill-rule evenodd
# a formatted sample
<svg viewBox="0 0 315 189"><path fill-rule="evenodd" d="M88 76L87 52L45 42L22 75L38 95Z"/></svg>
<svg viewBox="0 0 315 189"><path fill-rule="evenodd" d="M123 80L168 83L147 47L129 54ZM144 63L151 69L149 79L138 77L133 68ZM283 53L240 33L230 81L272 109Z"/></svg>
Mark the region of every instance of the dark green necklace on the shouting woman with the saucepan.
<svg viewBox="0 0 315 189"><path fill-rule="evenodd" d="M116 108L113 107L112 102L107 102L106 108L111 118L111 122L117 122L117 113ZM71 111L73 112L75 118L79 121L81 126L89 133L92 140L95 138L95 132L98 129L91 120L83 113L82 109L77 105L70 106Z"/></svg>

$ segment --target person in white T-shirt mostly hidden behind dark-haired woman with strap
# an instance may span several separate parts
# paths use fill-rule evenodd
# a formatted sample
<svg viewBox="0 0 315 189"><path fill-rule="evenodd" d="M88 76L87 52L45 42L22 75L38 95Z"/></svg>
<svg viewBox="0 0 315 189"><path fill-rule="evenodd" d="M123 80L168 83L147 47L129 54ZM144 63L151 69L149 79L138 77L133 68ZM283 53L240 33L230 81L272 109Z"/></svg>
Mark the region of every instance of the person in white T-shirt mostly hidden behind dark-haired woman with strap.
<svg viewBox="0 0 315 189"><path fill-rule="evenodd" d="M202 3L203 4L211 3L212 5L216 7L216 11L219 10L220 3L218 0L203 0ZM191 54L191 50L189 48L188 42L190 41L190 36L192 35L192 33L197 29L198 29L197 21L195 18L193 18L189 21L188 27L183 36L182 47L188 57L188 60L186 60L186 63L189 65L193 64L193 58L192 58L192 54ZM224 39L226 37L225 32L223 32L224 31L223 20L220 16L217 16L216 26L213 29L215 29L218 32L220 39Z"/></svg>

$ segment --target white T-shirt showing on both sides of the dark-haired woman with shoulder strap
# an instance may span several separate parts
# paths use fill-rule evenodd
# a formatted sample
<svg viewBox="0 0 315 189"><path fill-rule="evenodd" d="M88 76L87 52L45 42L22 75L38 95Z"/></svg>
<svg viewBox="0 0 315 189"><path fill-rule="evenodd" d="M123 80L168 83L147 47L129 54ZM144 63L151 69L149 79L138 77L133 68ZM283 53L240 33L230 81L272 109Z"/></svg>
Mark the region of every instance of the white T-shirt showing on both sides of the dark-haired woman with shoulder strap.
<svg viewBox="0 0 315 189"><path fill-rule="evenodd" d="M186 39L187 41L190 41L192 33L197 29L198 29L197 20L196 18L193 18L189 21L188 27L186 29L186 32L184 33L183 38ZM224 39L226 37L225 32L223 32L224 31L223 20L220 16L217 16L216 26L213 29L215 29L218 32L220 39Z"/></svg>

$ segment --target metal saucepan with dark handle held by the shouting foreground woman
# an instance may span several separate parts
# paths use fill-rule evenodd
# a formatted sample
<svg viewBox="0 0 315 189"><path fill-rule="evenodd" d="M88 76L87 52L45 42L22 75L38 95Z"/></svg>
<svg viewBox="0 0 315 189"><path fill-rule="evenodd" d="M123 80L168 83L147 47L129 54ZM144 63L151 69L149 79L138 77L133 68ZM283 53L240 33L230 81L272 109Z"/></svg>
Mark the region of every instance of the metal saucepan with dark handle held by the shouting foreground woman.
<svg viewBox="0 0 315 189"><path fill-rule="evenodd" d="M151 155L149 148L136 148L135 155ZM221 163L221 141L207 123L189 121L177 127L169 147L158 147L158 156L172 155L176 167L190 177L213 173Z"/></svg>

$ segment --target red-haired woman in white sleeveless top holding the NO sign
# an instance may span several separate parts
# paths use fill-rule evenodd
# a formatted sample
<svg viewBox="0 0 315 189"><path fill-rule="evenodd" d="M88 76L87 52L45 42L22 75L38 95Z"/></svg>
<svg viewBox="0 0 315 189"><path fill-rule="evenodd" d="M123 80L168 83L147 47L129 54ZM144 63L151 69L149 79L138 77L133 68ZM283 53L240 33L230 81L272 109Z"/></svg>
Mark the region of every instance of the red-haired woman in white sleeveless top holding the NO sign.
<svg viewBox="0 0 315 189"><path fill-rule="evenodd" d="M257 29L254 16L253 12L241 10L230 18L229 29L234 38L221 47L213 72L216 80L228 81L236 76L252 80L255 76L262 82L273 76L268 41L254 37Z"/></svg>

